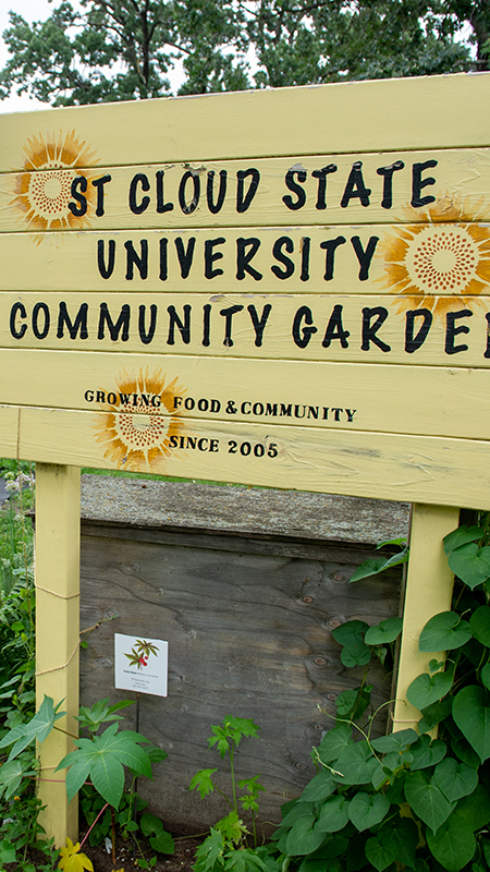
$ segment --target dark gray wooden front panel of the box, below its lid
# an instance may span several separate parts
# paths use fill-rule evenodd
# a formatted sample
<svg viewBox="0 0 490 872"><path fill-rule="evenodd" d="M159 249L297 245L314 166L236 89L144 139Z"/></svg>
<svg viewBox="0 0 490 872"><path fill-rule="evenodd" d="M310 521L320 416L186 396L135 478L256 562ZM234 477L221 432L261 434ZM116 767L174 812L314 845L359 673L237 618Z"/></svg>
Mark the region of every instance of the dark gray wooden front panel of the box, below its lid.
<svg viewBox="0 0 490 872"><path fill-rule="evenodd" d="M128 695L113 690L114 632L169 641L169 695L140 701L140 730L169 753L155 782L139 784L152 811L187 832L201 832L225 813L219 796L203 802L187 788L201 767L217 767L217 783L226 786L207 737L211 724L235 714L260 726L259 739L241 746L237 775L260 773L267 788L260 822L280 820L281 803L298 796L314 774L310 749L331 726L335 697L359 677L342 666L332 628L350 618L372 623L396 615L396 578L348 585L353 564L287 558L273 541L257 556L246 538L242 553L231 553L195 547L194 534L169 547L134 542L131 531L125 541L87 532L82 626L113 619L91 633L82 653L84 703ZM372 678L379 704L390 689L381 687L377 668ZM131 708L126 717L134 726Z"/></svg>

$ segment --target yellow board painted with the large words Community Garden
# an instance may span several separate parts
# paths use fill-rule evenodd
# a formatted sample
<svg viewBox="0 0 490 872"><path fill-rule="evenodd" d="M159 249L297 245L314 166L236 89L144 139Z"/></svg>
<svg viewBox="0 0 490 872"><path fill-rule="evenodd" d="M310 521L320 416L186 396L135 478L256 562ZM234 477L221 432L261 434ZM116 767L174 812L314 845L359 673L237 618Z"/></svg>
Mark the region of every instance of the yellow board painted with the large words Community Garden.
<svg viewBox="0 0 490 872"><path fill-rule="evenodd" d="M177 353L488 368L489 322L483 295L0 293L0 348L148 361Z"/></svg>

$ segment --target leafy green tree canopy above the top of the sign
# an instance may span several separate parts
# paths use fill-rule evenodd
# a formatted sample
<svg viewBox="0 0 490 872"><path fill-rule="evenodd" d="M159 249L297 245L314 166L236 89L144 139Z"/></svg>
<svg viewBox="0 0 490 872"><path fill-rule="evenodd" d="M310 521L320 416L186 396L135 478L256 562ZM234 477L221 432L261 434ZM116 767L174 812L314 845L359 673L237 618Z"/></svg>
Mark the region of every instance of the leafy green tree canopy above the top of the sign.
<svg viewBox="0 0 490 872"><path fill-rule="evenodd" d="M10 13L0 96L169 96L177 63L181 95L489 69L490 0L50 1L44 22Z"/></svg>

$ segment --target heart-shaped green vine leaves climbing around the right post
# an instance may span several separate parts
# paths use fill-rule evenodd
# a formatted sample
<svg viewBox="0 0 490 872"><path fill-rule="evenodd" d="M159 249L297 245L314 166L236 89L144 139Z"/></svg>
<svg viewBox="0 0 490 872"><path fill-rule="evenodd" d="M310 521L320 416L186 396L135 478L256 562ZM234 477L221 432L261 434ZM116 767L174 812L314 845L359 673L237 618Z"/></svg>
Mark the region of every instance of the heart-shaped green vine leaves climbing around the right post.
<svg viewBox="0 0 490 872"><path fill-rule="evenodd" d="M485 519L487 521L487 519ZM444 540L455 585L451 611L431 618L420 651L434 654L409 686L418 730L372 738L365 680L336 701L335 726L314 749L317 774L282 808L274 859L299 872L490 868L490 546L488 524ZM399 619L348 621L333 635L344 665L368 666L395 643ZM444 662L441 652L448 652ZM381 657L382 659L382 657ZM438 727L438 738L430 731Z"/></svg>

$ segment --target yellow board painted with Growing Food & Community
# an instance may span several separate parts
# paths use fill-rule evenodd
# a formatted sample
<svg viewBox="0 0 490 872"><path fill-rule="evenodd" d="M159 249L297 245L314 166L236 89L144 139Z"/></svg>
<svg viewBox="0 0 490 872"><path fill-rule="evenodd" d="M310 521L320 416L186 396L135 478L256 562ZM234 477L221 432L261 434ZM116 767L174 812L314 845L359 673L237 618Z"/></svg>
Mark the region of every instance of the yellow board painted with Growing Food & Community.
<svg viewBox="0 0 490 872"><path fill-rule="evenodd" d="M15 377L12 377L12 374ZM449 398L443 402L438 398ZM192 419L488 439L485 370L1 350L0 401ZM160 420L160 424L158 424ZM149 421L149 424L148 424Z"/></svg>

